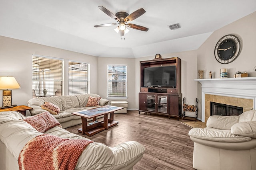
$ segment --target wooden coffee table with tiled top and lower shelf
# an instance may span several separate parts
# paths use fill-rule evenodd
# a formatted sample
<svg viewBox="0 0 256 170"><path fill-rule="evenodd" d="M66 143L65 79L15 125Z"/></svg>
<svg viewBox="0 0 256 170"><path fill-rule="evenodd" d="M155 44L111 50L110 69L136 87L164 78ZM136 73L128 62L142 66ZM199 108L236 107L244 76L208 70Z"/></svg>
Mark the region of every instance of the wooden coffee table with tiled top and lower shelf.
<svg viewBox="0 0 256 170"><path fill-rule="evenodd" d="M77 111L72 114L81 116L82 128L78 129L78 132L82 133L82 135L86 134L92 136L100 131L108 130L109 127L117 125L118 121L114 121L114 111L123 108L124 107L106 105L94 109ZM108 118L108 113L110 113L110 118ZM97 121L97 117L101 115L104 115L104 120ZM92 119L92 123L87 124L87 119Z"/></svg>

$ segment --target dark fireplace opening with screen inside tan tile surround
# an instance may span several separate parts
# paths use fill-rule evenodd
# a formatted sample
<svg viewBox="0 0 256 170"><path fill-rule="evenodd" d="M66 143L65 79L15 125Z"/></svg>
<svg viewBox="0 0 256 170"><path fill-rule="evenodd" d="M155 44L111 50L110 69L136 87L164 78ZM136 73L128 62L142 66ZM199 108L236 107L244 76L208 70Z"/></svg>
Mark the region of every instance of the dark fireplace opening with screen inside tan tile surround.
<svg viewBox="0 0 256 170"><path fill-rule="evenodd" d="M232 116L243 113L243 107L211 102L211 115Z"/></svg>

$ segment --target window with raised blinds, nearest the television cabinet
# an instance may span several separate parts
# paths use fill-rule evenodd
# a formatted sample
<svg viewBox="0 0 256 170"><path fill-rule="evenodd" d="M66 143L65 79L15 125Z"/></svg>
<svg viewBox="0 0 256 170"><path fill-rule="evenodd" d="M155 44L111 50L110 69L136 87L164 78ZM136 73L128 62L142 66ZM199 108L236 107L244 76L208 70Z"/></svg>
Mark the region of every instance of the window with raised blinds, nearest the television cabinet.
<svg viewBox="0 0 256 170"><path fill-rule="evenodd" d="M108 65L108 96L127 97L127 66Z"/></svg>

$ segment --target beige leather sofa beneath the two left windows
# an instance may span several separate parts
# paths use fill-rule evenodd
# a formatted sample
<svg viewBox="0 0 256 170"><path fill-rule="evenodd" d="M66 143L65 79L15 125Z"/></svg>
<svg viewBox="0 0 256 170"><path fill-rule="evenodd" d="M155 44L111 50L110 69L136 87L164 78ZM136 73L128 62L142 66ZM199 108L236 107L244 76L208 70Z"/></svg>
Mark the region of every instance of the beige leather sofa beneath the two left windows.
<svg viewBox="0 0 256 170"><path fill-rule="evenodd" d="M81 124L81 117L72 115L72 112L81 111L85 109L92 109L94 107L86 107L88 97L100 97L97 94L78 94L70 96L56 96L56 97L44 97L33 98L28 100L28 106L33 109L30 110L31 115L42 113L45 110L42 109L44 102L51 102L60 108L58 115L53 115L62 125L62 128L71 127ZM100 99L100 106L108 104L108 100Z"/></svg>

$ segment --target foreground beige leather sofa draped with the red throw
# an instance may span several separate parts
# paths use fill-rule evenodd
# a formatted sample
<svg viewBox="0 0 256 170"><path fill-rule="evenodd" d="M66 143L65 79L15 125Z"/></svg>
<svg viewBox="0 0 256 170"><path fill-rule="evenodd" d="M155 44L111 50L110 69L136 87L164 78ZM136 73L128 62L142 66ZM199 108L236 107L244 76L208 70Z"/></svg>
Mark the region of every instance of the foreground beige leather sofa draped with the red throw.
<svg viewBox="0 0 256 170"><path fill-rule="evenodd" d="M61 138L86 139L58 126L41 133L23 121L24 118L16 111L0 112L0 170L19 170L18 157L21 150L38 135L47 133ZM136 141L121 143L116 147L93 142L83 150L75 170L132 170L142 158L144 150L144 146Z"/></svg>

